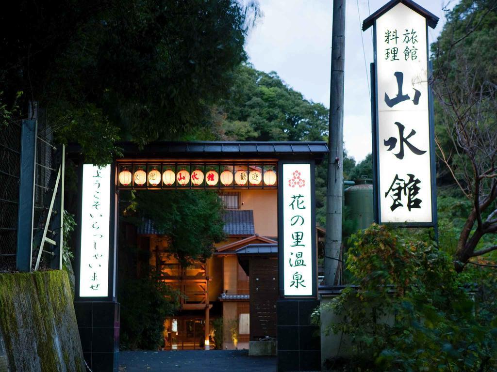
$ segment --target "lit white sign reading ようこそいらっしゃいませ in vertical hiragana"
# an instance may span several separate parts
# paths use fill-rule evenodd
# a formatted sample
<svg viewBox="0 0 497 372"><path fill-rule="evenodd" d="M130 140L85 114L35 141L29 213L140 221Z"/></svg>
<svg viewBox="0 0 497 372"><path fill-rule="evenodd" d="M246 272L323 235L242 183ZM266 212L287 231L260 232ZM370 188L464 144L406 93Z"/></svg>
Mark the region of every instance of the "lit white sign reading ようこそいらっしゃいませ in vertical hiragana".
<svg viewBox="0 0 497 372"><path fill-rule="evenodd" d="M80 297L107 297L110 165L83 164Z"/></svg>

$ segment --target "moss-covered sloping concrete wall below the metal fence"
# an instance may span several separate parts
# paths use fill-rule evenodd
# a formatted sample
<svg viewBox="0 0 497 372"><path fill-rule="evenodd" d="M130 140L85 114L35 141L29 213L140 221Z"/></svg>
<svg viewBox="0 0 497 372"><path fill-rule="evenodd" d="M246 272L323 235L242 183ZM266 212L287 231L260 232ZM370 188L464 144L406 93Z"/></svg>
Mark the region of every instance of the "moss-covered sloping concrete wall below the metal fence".
<svg viewBox="0 0 497 372"><path fill-rule="evenodd" d="M66 271L0 273L0 344L10 372L85 371Z"/></svg>

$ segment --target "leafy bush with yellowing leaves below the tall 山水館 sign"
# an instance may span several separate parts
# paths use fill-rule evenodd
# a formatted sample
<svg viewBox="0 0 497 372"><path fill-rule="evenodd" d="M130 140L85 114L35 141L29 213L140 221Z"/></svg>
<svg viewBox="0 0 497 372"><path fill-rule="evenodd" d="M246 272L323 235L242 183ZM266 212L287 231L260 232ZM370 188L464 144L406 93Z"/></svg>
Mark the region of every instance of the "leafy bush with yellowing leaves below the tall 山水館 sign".
<svg viewBox="0 0 497 372"><path fill-rule="evenodd" d="M495 371L495 310L475 311L450 256L429 241L413 241L385 226L353 236L346 267L351 284L314 313L341 321L326 333L350 337L342 371ZM485 316L484 316L485 315ZM342 359L343 362L343 359Z"/></svg>

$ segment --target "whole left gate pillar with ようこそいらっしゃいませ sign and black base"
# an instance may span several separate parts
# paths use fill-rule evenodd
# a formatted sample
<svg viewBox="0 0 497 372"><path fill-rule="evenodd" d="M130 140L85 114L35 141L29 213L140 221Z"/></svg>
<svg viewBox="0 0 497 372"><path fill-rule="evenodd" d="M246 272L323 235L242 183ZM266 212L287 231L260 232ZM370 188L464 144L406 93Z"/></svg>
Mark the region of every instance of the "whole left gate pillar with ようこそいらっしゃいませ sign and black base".
<svg viewBox="0 0 497 372"><path fill-rule="evenodd" d="M85 362L99 372L119 368L115 178L115 164L80 163L74 307Z"/></svg>

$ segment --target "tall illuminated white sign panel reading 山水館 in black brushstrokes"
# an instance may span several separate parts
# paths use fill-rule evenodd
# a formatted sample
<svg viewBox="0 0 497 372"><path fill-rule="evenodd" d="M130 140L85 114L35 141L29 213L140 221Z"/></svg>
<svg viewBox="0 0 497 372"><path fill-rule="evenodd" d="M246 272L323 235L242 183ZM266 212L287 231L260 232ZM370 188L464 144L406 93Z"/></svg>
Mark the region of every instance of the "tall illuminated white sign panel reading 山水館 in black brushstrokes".
<svg viewBox="0 0 497 372"><path fill-rule="evenodd" d="M399 2L374 32L378 222L432 224L426 18Z"/></svg>

